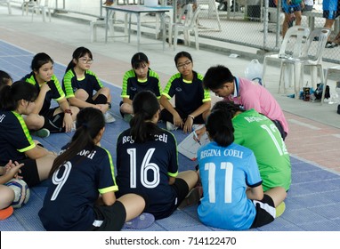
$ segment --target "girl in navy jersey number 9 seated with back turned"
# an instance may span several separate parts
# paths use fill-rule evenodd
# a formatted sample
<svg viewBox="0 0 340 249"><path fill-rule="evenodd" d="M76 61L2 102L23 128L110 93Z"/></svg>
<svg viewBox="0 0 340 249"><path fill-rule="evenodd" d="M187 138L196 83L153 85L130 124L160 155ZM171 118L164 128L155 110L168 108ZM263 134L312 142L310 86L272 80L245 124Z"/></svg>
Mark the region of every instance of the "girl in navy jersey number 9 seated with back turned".
<svg viewBox="0 0 340 249"><path fill-rule="evenodd" d="M76 127L72 140L61 149L61 155L55 159L50 172L52 181L39 212L45 229L149 227L155 218L150 213L142 213L147 206L143 197L128 194L116 198L118 187L112 157L100 146L105 130L101 110L81 109Z"/></svg>

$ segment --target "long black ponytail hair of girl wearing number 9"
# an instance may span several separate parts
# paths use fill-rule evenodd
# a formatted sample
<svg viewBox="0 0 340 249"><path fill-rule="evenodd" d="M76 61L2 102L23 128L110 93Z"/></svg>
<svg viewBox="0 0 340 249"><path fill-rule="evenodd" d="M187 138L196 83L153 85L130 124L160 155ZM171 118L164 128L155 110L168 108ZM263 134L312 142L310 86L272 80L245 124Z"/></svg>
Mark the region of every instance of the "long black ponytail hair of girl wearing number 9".
<svg viewBox="0 0 340 249"><path fill-rule="evenodd" d="M105 118L101 110L97 108L82 108L77 114L77 130L69 143L69 148L54 159L49 175L52 176L64 162L75 157L82 149L88 148L93 150L95 147L93 140L104 126Z"/></svg>

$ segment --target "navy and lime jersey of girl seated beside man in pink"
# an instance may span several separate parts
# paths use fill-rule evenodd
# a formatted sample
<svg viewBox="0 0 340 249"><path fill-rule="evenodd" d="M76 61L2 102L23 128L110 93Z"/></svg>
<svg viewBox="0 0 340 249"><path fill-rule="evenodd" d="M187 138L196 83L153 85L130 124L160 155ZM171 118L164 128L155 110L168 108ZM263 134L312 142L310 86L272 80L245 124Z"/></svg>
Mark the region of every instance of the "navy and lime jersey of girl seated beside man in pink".
<svg viewBox="0 0 340 249"><path fill-rule="evenodd" d="M189 115L204 102L210 101L210 92L203 87L203 76L193 71L192 82L182 78L180 73L172 76L162 92L168 100L175 96L174 106L184 114Z"/></svg>

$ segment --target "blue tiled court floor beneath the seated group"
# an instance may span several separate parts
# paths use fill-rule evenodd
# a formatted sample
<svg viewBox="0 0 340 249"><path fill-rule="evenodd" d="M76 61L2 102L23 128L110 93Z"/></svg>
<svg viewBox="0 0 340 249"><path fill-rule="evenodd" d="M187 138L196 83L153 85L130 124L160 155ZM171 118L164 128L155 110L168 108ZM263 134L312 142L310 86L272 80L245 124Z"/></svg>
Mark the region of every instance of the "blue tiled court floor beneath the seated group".
<svg viewBox="0 0 340 249"><path fill-rule="evenodd" d="M0 40L0 69L7 71L14 81L19 80L30 72L30 61L33 53ZM61 80L66 66L56 63L54 73ZM109 86L111 92L120 95L120 88L103 82ZM101 146L109 149L114 160L116 159L117 135L128 127L118 113L118 99L113 100L111 113L117 121L107 124L107 129L101 141ZM162 124L161 124L162 125ZM1 131L0 131L1 132ZM51 134L45 139L34 138L41 141L46 149L59 151L66 144L73 133ZM185 135L175 131L177 142L181 142ZM271 224L259 229L263 231L340 231L340 175L324 169L320 165L308 162L300 157L291 155L292 185L287 194L286 212ZM180 171L194 169L195 162L179 154ZM28 204L14 211L14 214L5 221L0 221L1 231L41 231L44 230L37 213L43 204L47 182L31 189ZM177 210L170 217L155 221L148 229L150 231L212 231L214 228L206 227L196 213L197 206L184 210Z"/></svg>

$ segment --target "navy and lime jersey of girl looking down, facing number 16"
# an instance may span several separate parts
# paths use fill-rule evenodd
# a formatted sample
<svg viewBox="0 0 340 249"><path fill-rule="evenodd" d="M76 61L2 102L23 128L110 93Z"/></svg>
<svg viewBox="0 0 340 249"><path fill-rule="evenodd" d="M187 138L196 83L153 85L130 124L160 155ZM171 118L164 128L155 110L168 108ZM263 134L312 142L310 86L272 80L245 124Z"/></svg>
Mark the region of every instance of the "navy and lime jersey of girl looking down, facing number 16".
<svg viewBox="0 0 340 249"><path fill-rule="evenodd" d="M134 95L136 95L138 92L147 90L155 93L158 99L160 98L162 88L159 83L159 76L156 72L149 69L148 77L144 81L137 78L134 69L125 72L123 77L122 93L120 97L134 100Z"/></svg>

